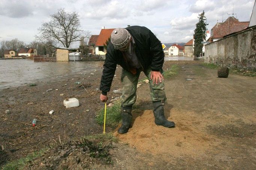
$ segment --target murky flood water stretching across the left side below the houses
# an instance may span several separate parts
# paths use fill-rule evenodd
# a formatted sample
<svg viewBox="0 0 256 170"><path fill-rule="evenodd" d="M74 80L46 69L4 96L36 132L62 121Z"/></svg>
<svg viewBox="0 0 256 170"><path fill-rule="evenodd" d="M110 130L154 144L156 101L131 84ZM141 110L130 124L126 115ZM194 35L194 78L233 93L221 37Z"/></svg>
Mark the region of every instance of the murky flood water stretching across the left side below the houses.
<svg viewBox="0 0 256 170"><path fill-rule="evenodd" d="M0 89L36 81L53 81L70 73L97 69L96 62L34 62L27 59L0 60Z"/></svg>

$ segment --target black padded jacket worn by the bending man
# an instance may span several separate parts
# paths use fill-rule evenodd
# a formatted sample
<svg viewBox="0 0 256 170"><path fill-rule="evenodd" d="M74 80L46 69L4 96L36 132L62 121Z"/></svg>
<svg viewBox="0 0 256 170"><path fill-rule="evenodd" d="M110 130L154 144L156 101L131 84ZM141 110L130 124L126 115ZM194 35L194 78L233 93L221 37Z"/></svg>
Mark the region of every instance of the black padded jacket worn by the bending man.
<svg viewBox="0 0 256 170"><path fill-rule="evenodd" d="M142 69L151 67L152 71L159 71L163 67L164 52L157 37L146 27L131 26L125 29L129 31L135 41L135 53ZM107 92L110 91L117 64L129 71L122 52L114 49L113 44L109 41L100 85L103 95L107 95Z"/></svg>

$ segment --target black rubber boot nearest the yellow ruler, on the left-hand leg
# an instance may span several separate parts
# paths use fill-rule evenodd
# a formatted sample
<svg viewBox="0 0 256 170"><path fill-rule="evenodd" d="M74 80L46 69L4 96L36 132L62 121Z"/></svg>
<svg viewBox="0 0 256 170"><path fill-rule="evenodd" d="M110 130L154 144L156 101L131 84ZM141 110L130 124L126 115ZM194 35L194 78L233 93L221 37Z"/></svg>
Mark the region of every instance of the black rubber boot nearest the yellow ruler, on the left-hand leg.
<svg viewBox="0 0 256 170"><path fill-rule="evenodd" d="M132 114L131 114L131 108L126 108L122 106L122 126L118 129L118 133L127 133L129 128L131 127L131 121L132 121Z"/></svg>

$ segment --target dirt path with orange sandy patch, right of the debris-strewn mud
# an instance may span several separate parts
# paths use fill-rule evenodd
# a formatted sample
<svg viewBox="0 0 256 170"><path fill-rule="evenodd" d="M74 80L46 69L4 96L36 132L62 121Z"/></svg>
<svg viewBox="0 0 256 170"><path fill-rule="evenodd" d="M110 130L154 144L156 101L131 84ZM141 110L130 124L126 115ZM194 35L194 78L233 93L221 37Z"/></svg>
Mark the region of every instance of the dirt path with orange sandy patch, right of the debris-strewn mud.
<svg viewBox="0 0 256 170"><path fill-rule="evenodd" d="M187 80L187 78L192 80ZM143 153L166 161L170 169L256 168L256 79L216 69L181 65L175 78L165 81L165 114L176 128L154 124L150 98L138 90L143 109L135 110L133 127L116 136ZM149 166L161 164L153 161Z"/></svg>

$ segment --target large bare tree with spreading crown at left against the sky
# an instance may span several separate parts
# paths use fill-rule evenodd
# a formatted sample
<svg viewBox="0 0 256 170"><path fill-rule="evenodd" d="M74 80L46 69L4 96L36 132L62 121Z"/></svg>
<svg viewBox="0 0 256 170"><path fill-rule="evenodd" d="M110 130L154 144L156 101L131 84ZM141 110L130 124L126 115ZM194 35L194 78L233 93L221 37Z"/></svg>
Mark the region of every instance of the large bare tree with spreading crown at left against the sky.
<svg viewBox="0 0 256 170"><path fill-rule="evenodd" d="M38 29L39 35L36 39L47 46L58 47L60 45L69 47L74 41L80 41L81 25L76 12L66 12L59 9L50 15L49 22L43 22Z"/></svg>

